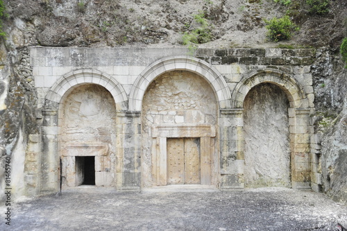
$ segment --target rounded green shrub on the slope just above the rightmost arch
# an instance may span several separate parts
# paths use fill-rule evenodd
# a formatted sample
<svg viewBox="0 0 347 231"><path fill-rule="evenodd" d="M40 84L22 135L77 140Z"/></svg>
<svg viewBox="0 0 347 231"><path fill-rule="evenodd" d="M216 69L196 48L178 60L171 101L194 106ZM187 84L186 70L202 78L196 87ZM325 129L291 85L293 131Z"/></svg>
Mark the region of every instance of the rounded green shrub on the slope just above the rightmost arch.
<svg viewBox="0 0 347 231"><path fill-rule="evenodd" d="M269 30L268 35L273 41L289 40L293 31L298 31L299 28L291 22L289 16L284 16L280 18L273 17L270 20L264 19L267 24L266 28Z"/></svg>

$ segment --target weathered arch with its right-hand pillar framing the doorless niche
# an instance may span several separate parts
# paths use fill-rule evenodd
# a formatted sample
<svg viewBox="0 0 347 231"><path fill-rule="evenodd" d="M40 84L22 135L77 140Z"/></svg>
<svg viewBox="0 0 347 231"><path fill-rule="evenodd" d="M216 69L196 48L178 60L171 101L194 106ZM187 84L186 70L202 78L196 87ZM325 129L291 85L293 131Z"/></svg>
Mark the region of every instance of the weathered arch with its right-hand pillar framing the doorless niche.
<svg viewBox="0 0 347 231"><path fill-rule="evenodd" d="M310 189L310 104L303 87L285 72L262 69L247 74L232 92L232 108L244 117L244 100L248 92L260 83L278 85L289 100L289 142L291 153L291 187ZM243 147L243 125L239 130L238 144ZM240 160L244 160L244 148L238 150Z"/></svg>

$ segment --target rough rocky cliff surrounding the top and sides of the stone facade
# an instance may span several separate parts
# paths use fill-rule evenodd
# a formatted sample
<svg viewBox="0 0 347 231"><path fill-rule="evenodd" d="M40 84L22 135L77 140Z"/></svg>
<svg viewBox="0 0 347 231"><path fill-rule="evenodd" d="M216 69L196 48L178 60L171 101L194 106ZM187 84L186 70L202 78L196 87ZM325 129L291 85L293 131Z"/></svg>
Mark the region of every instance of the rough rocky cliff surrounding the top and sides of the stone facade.
<svg viewBox="0 0 347 231"><path fill-rule="evenodd" d="M301 1L294 1L303 4ZM4 0L9 17L3 19L6 40L0 47L0 155L26 149L27 135L40 129L37 92L29 65L29 46L181 46L182 33L194 28L194 15L204 12L212 41L200 47L278 46L266 40L262 18L282 16L287 10L271 0ZM347 2L330 3L325 16L305 15L301 26L284 44L319 49L312 74L316 115L321 137L323 191L347 200L346 69L338 47L347 36ZM1 165L1 171L3 167ZM20 172L20 171L19 171ZM18 173L18 177L22 175ZM3 172L0 172L3 176ZM3 185L0 178L0 185Z"/></svg>

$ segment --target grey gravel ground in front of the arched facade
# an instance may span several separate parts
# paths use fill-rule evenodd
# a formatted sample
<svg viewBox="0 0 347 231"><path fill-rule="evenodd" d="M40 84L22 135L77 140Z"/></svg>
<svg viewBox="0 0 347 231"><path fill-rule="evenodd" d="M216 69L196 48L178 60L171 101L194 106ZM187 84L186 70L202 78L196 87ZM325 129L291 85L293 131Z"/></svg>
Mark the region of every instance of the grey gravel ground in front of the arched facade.
<svg viewBox="0 0 347 231"><path fill-rule="evenodd" d="M347 223L346 205L283 188L129 193L78 187L11 206L11 226L2 219L0 230L335 230L337 222Z"/></svg>

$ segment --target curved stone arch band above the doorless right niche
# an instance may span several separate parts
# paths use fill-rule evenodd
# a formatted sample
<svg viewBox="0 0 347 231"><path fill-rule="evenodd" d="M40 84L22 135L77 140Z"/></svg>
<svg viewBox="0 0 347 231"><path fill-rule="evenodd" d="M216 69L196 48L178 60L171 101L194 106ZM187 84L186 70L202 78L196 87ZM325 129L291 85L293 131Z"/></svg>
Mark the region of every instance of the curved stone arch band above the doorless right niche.
<svg viewBox="0 0 347 231"><path fill-rule="evenodd" d="M291 108L309 108L307 97L300 83L285 72L273 69L257 70L244 76L232 91L232 108L243 108L248 92L260 83L278 85L287 94Z"/></svg>

